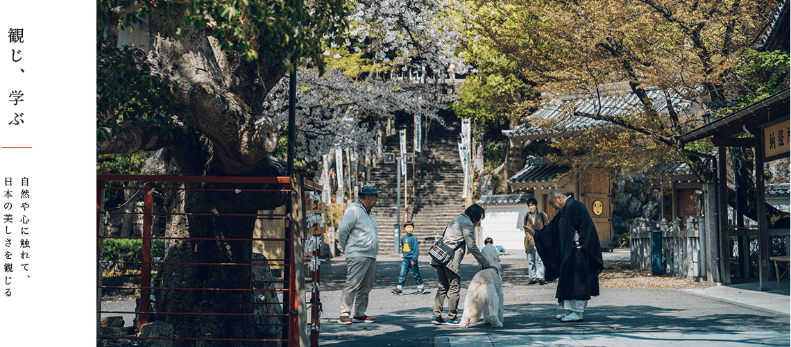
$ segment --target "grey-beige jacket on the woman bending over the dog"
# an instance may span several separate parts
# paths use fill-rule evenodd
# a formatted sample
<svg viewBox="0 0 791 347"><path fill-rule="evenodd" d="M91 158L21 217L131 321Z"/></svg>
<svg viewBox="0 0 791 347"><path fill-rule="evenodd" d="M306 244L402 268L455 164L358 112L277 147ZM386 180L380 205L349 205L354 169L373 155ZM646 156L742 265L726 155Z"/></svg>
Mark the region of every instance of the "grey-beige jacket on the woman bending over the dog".
<svg viewBox="0 0 791 347"><path fill-rule="evenodd" d="M478 246L475 245L475 225L472 224L470 217L467 217L466 214L462 213L461 216L453 218L448 226L445 227L445 237L442 239L445 244L450 247L456 247L460 243L464 243L461 247L456 249L456 252L453 254L453 258L445 264L445 267L448 270L451 270L453 273L461 276L461 261L464 259L464 255L466 254L464 247L467 247L467 250L470 251L472 256L475 257L475 260L481 264L481 266L486 265L486 258L483 258L483 254L478 249ZM434 259L431 259L431 266L443 266Z"/></svg>

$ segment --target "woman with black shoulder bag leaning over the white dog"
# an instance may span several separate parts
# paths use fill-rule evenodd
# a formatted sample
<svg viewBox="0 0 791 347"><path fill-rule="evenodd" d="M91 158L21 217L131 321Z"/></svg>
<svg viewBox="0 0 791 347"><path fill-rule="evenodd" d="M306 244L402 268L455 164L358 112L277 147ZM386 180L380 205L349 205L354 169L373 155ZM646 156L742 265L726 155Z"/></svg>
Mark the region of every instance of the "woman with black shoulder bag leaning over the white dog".
<svg viewBox="0 0 791 347"><path fill-rule="evenodd" d="M445 227L442 240L448 247L452 247L456 251L453 252L450 261L445 265L431 259L430 265L437 268L437 278L439 279L437 296L434 296L434 316L431 319L433 324L459 325L457 308L459 307L459 291L461 289L461 261L466 253L464 247L467 247L475 260L483 266L483 269L490 267L489 262L486 262L486 258L483 258L478 246L475 245L475 226L480 224L485 215L482 206L472 204ZM448 297L447 322L442 319L445 296Z"/></svg>

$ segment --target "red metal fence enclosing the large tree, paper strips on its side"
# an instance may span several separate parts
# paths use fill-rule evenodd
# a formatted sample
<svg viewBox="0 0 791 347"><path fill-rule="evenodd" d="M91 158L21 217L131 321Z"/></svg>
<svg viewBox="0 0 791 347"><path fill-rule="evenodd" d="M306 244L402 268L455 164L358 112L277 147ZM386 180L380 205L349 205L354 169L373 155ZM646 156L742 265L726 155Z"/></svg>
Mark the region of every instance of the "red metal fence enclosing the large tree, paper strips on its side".
<svg viewBox="0 0 791 347"><path fill-rule="evenodd" d="M109 184L111 182L125 182L126 185ZM138 183L138 187L132 187ZM197 183L195 185L187 184L169 184L167 187L159 186L153 188L148 184L142 185L140 183ZM290 213L276 214L276 213L184 213L184 212L156 212L155 199L163 191L171 190L168 193L180 194L187 190L230 190L239 194L239 189L234 188L206 188L205 183L239 183L240 185L253 183L260 185L282 185L282 189L268 189L261 190L255 189L255 192L271 192L272 194L288 194L290 199L287 204L290 204ZM192 186L192 187L190 187ZM244 187L249 187L246 185ZM306 190L305 188L308 187ZM104 208L104 194L108 190L140 190L142 192L143 206L142 211L129 211L129 212L112 212ZM243 189L247 190L247 189ZM309 191L308 191L309 190ZM134 314L136 327L139 331L149 321L157 320L156 315L213 315L213 316L252 316L255 319L256 326L265 326L267 328L274 326L274 330L279 330L280 336L272 336L266 339L245 339L245 338L219 338L211 336L202 337L188 337L188 336L141 336L141 334L127 335L123 338L137 338L137 339L169 339L180 340L182 342L188 341L191 344L197 344L199 341L269 341L271 343L280 343L283 346L300 345L300 341L309 340L311 345L318 345L318 334L320 326L320 273L318 266L320 259L318 258L318 240L320 233L324 231L323 228L313 226L311 221L316 221L316 217L308 219L308 212L311 214L323 213L323 206L318 204L311 204L314 202L312 198L306 198L306 194L320 194L321 187L316 183L302 179L301 175L296 174L292 177L218 177L218 176L154 176L154 175L97 175L97 338L119 338L119 336L102 335L100 333L100 319L104 314ZM306 203L306 201L308 203ZM259 211L260 212L260 211ZM143 228L142 236L105 236L102 230L103 218L111 213L130 213L142 215ZM252 217L257 219L278 219L286 220L285 228L282 235L284 237L259 237L259 238L228 238L228 237L175 237L175 236L153 236L153 219L156 217L171 217L176 215L208 215L210 217ZM309 228L308 228L309 227ZM252 226L251 226L252 228ZM313 235L308 239L308 231ZM252 230L251 230L252 233ZM124 261L115 260L111 263L112 259L104 261L102 259L102 251L104 240L108 239L127 239L127 240L141 240L141 255L137 261ZM152 241L153 240L168 240L168 242L187 242L195 243L197 249L198 244L202 242L235 242L235 241L278 241L282 242L285 248L284 257L277 259L263 259L263 257L253 257L251 262L164 262L162 258L152 257ZM305 243L305 240L308 242ZM252 253L252 248L251 248ZM305 258L305 255L312 253L312 256ZM166 259L165 259L166 260ZM305 269L307 263L307 269ZM134 268L139 270L140 285L104 285L103 273L104 270L111 266L111 264L123 264L127 268ZM268 266L284 266L282 277L267 277L266 279L259 277L252 278L249 286L245 288L187 288L170 286L165 287L161 278L152 276L152 270L156 271L161 269L162 266L248 266L251 270L263 269L268 272ZM260 271L252 271L252 273L261 273ZM308 276L310 285L308 289L312 292L311 315L310 322L307 322L306 308L305 308L305 276ZM107 311L102 310L102 290L108 289L132 289L139 292L138 307L134 311ZM152 292L165 293L167 291L191 291L191 292L250 292L252 296L260 296L263 300L255 302L255 312L238 312L238 311L223 311L223 312L196 312L196 311L182 311L182 312L163 312L157 311L157 297L152 296ZM267 294L267 292L269 294ZM274 293L271 294L271 293ZM280 293L282 300L278 298L277 293ZM153 307L153 308L152 308ZM261 309L260 307L266 307ZM276 309L273 309L276 307ZM272 330L271 330L272 331Z"/></svg>

